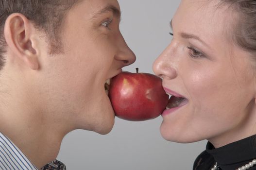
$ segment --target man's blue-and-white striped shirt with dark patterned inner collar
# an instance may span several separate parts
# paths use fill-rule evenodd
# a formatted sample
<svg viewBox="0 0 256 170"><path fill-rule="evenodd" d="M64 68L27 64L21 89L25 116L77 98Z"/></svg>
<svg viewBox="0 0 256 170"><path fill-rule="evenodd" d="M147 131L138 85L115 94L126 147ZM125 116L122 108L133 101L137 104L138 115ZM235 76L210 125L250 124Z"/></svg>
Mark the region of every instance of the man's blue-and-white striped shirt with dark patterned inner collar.
<svg viewBox="0 0 256 170"><path fill-rule="evenodd" d="M18 147L0 132L0 170L38 170ZM54 160L41 170L66 170L66 166Z"/></svg>

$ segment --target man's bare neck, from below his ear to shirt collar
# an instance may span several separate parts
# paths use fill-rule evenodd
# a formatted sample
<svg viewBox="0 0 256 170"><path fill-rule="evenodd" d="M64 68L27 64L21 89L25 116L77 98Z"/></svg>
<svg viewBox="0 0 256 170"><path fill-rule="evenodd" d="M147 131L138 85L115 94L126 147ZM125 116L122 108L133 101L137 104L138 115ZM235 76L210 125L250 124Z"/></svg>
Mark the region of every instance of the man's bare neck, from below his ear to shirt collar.
<svg viewBox="0 0 256 170"><path fill-rule="evenodd" d="M72 116L50 106L51 94L36 86L34 72L5 67L0 75L0 132L40 169L57 157L63 137L76 129Z"/></svg>

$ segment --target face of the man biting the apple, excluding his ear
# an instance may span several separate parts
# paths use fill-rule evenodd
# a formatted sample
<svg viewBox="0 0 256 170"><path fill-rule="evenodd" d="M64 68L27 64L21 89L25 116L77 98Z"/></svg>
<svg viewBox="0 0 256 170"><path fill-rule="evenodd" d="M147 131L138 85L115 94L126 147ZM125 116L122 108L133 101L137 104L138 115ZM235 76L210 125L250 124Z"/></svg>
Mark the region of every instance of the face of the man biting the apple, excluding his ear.
<svg viewBox="0 0 256 170"><path fill-rule="evenodd" d="M83 0L67 13L63 54L41 58L44 104L73 129L110 132L115 114L104 83L135 61L119 32L117 0Z"/></svg>

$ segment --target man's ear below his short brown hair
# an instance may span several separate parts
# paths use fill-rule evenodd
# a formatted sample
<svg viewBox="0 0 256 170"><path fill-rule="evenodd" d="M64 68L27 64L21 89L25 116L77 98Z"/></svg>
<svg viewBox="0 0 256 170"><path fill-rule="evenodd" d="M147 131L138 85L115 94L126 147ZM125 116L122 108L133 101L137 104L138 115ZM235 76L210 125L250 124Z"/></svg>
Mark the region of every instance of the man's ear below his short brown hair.
<svg viewBox="0 0 256 170"><path fill-rule="evenodd" d="M9 49L29 68L39 69L37 38L34 25L20 13L11 14L5 21L4 36Z"/></svg>

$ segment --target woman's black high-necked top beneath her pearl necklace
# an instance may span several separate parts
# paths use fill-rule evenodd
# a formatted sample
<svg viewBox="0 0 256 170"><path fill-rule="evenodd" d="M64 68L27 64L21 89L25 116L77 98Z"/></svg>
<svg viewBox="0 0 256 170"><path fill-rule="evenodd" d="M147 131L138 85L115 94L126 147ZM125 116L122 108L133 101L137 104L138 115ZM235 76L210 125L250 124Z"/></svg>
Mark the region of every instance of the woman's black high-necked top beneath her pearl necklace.
<svg viewBox="0 0 256 170"><path fill-rule="evenodd" d="M196 158L193 170L211 170L216 162L220 170L237 170L253 159L256 159L256 136L217 149L208 142L206 150ZM249 170L256 170L256 165Z"/></svg>

